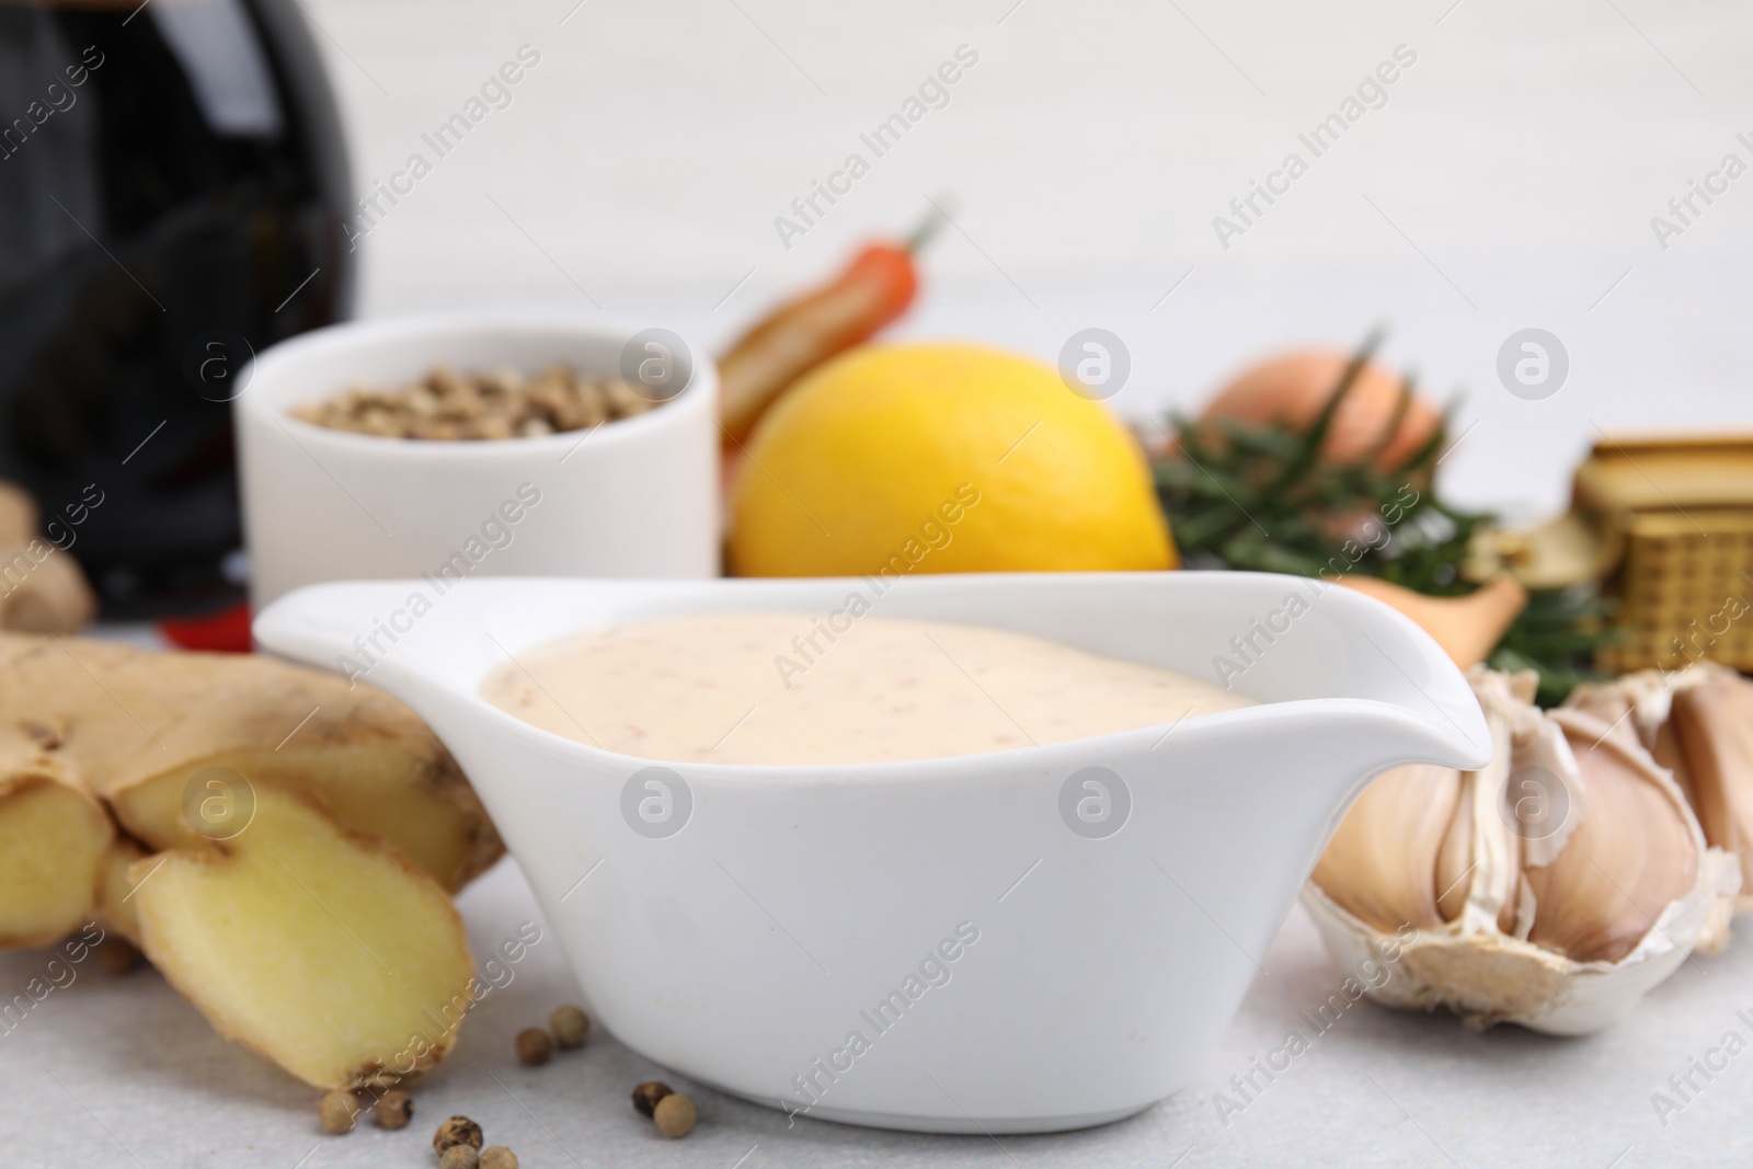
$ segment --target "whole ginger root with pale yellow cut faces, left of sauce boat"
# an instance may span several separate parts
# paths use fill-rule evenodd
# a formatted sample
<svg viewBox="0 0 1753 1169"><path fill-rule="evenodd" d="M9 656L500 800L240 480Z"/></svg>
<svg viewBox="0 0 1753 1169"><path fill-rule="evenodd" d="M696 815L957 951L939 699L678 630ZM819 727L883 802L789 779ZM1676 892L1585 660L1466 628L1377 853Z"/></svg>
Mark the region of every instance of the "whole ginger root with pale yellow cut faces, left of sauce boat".
<svg viewBox="0 0 1753 1169"><path fill-rule="evenodd" d="M501 854L387 694L263 657L0 633L0 946L96 913L219 1034L310 1085L393 1085L445 1057L473 1001L447 894Z"/></svg>

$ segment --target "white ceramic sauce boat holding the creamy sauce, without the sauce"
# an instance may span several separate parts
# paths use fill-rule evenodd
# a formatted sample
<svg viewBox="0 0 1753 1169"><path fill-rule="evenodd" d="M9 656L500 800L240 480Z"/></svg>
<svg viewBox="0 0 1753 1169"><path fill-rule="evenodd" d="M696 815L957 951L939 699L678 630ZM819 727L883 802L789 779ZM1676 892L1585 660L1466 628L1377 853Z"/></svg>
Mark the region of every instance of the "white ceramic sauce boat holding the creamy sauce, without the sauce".
<svg viewBox="0 0 1753 1169"><path fill-rule="evenodd" d="M1017 629L1262 705L985 755L763 768L598 750L477 692L580 629L792 610L808 633L852 594L876 617ZM1364 782L1490 754L1429 636L1297 577L333 584L275 601L256 638L370 662L365 680L431 722L617 1038L750 1101L896 1129L1071 1129L1187 1085Z"/></svg>

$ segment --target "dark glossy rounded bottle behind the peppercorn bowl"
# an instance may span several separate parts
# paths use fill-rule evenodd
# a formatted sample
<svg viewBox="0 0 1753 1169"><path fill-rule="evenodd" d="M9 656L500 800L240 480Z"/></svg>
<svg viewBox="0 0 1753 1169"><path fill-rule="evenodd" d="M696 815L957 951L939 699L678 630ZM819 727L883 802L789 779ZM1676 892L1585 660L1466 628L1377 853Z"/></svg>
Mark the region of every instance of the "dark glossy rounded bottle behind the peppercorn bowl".
<svg viewBox="0 0 1753 1169"><path fill-rule="evenodd" d="M230 400L349 312L349 202L295 0L0 0L0 478L105 617L242 598Z"/></svg>

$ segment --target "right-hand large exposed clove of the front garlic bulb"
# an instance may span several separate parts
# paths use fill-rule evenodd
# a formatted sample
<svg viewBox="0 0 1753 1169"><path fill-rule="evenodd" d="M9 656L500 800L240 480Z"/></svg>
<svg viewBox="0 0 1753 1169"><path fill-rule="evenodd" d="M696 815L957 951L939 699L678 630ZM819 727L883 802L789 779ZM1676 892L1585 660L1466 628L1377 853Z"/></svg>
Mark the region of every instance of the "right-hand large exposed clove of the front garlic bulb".
<svg viewBox="0 0 1753 1169"><path fill-rule="evenodd" d="M1606 738L1608 726L1586 715L1571 713L1564 727L1586 810L1548 864L1527 868L1527 939L1576 962L1618 962L1697 883L1702 850L1648 754Z"/></svg>

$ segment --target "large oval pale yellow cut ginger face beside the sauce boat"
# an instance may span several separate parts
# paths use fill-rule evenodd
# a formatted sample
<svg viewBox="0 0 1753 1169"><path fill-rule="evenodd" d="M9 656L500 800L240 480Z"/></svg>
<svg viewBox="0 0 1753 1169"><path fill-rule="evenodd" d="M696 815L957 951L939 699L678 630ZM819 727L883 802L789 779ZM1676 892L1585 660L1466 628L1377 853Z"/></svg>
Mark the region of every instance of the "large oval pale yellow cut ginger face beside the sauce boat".
<svg viewBox="0 0 1753 1169"><path fill-rule="evenodd" d="M219 1034L312 1087L429 1069L473 1001L445 890L302 796L254 796L231 840L131 866L145 955Z"/></svg>

